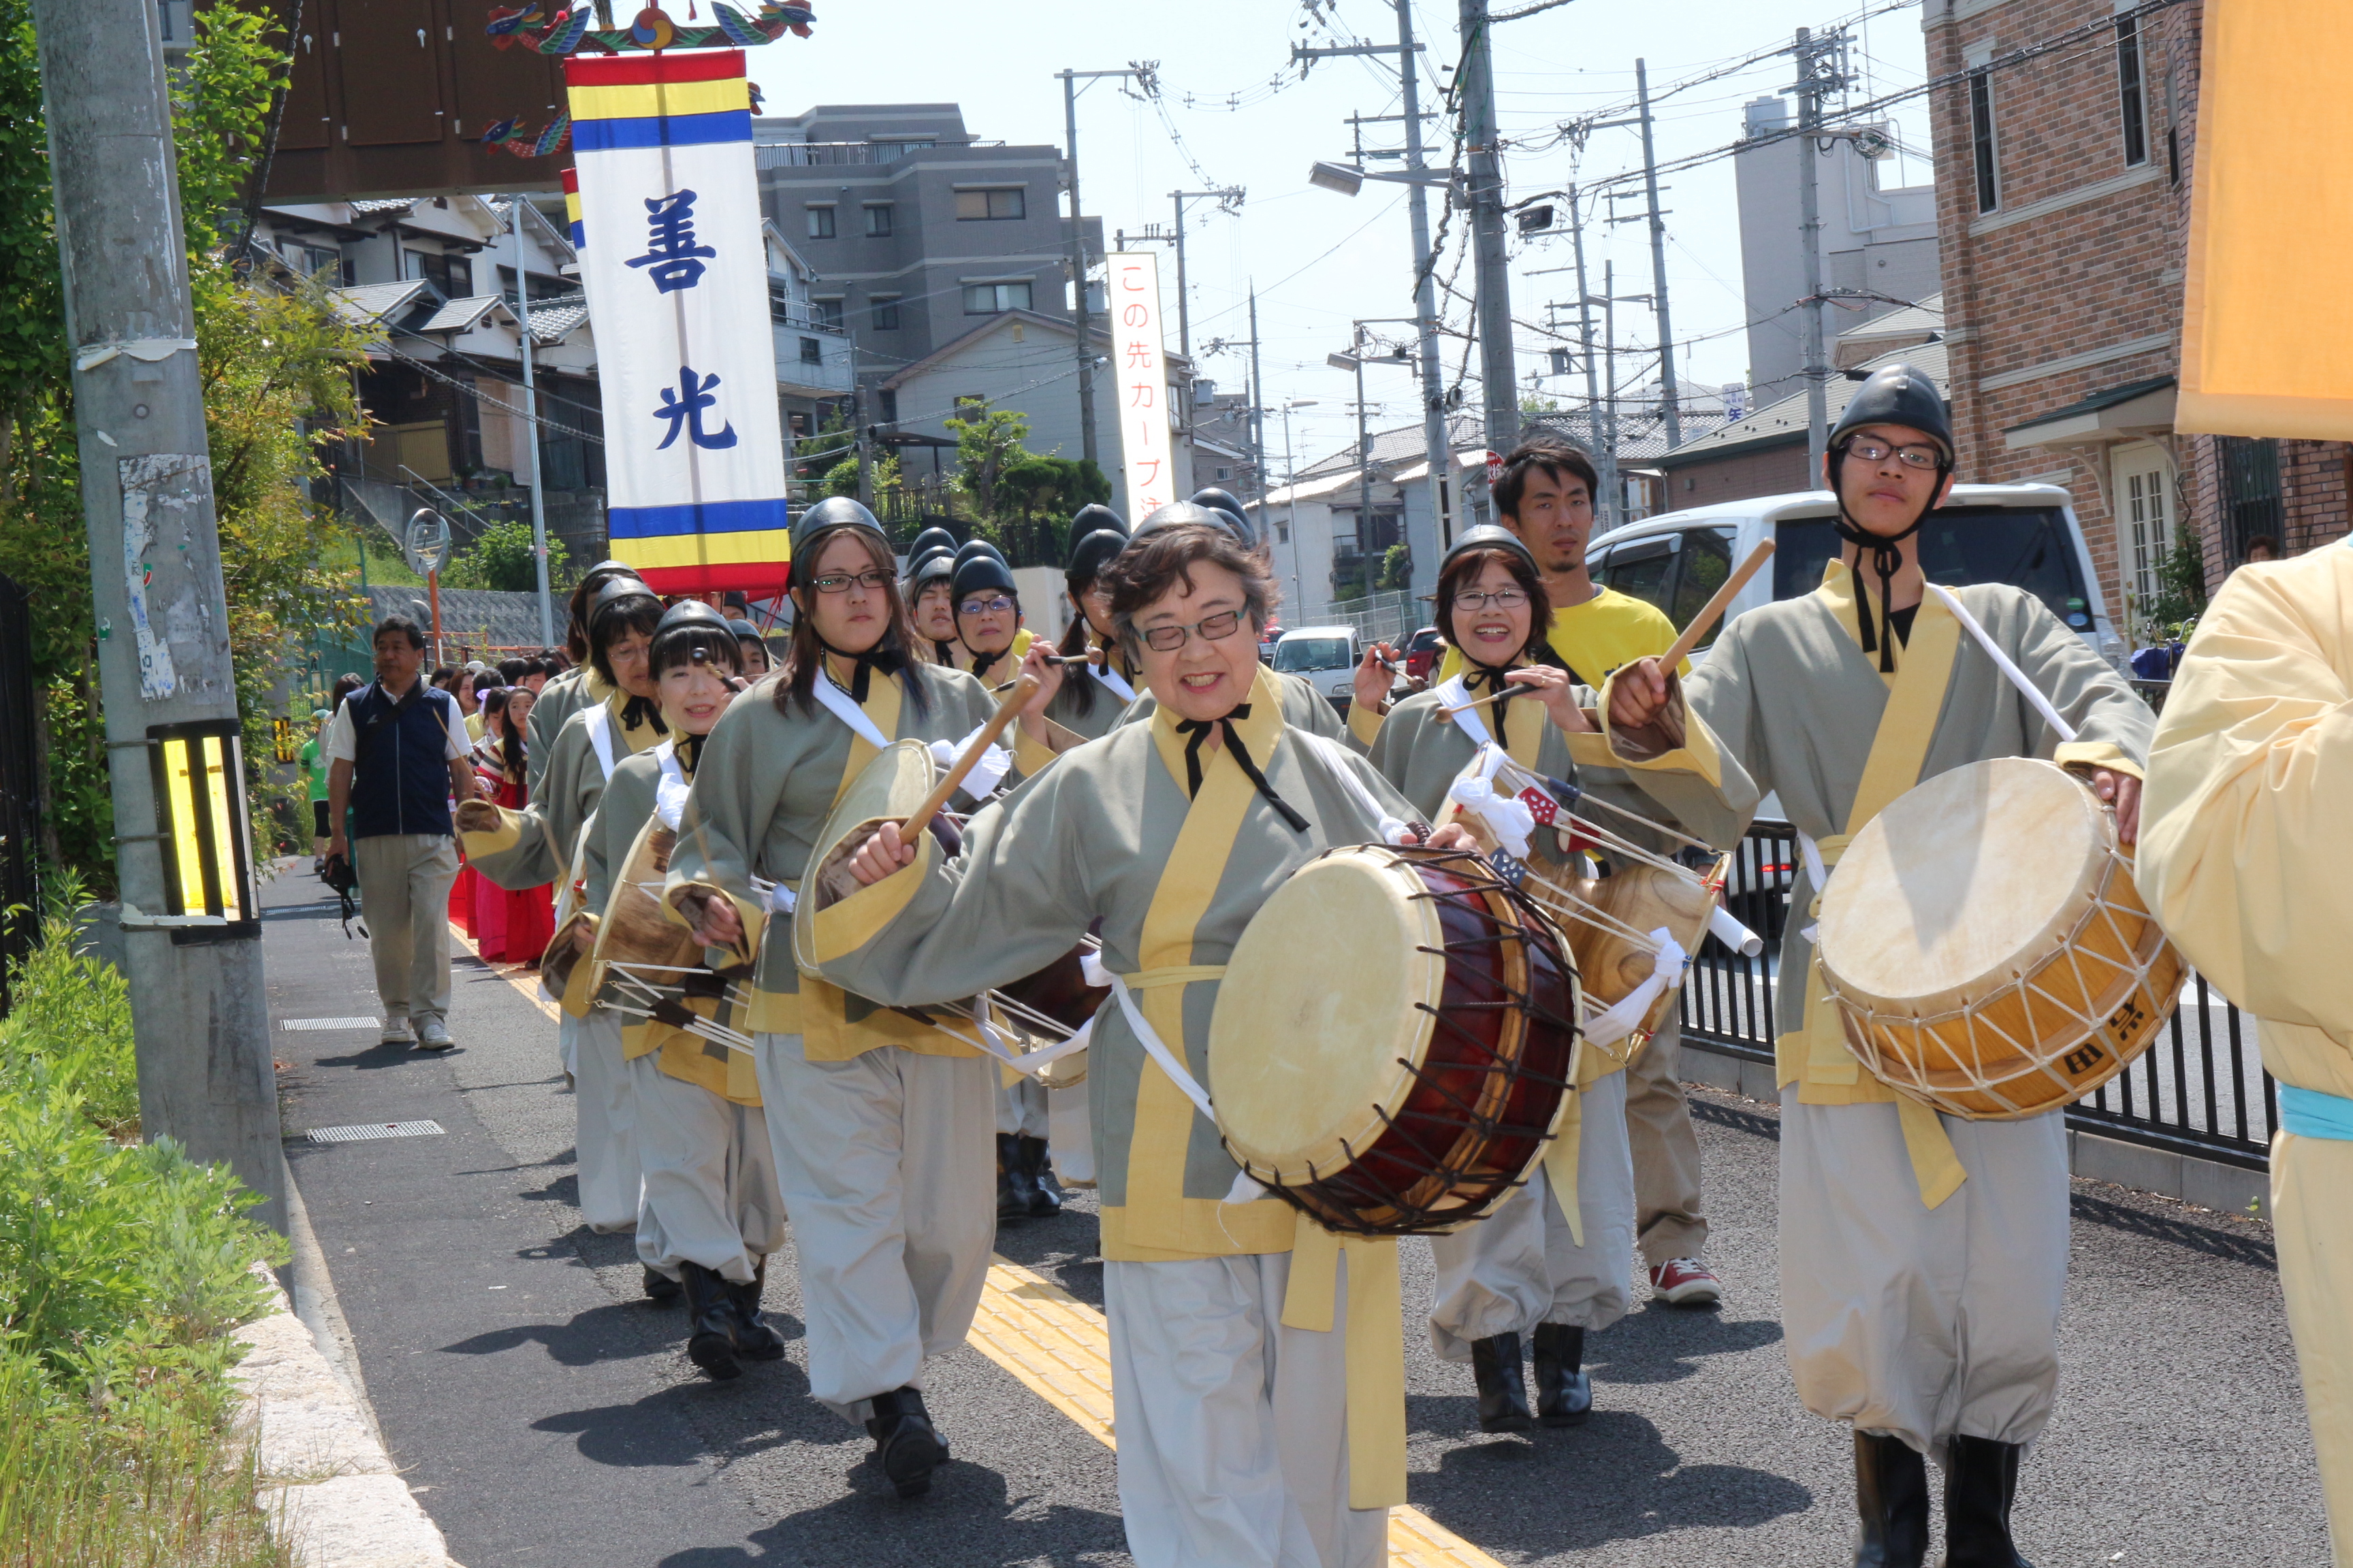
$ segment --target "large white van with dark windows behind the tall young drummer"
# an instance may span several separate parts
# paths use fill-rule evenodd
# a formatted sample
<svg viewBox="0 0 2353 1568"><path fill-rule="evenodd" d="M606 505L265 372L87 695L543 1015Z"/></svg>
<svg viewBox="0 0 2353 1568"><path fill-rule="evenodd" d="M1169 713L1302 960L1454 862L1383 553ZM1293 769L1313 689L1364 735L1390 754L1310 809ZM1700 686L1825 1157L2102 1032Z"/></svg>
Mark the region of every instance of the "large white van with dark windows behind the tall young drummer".
<svg viewBox="0 0 2353 1568"><path fill-rule="evenodd" d="M1586 550L1586 567L1595 583L1657 604L1680 628L1722 588L1734 562L1772 538L1772 564L1741 588L1725 611L1729 623L1760 604L1821 588L1821 569L1838 555L1835 517L1838 503L1824 489L1697 505L1612 529ZM2122 668L2125 639L2101 602L2075 508L2057 484L1955 484L1918 538L1932 583L2024 588L2094 654ZM1715 642L1720 630L1722 623L1699 646Z"/></svg>

